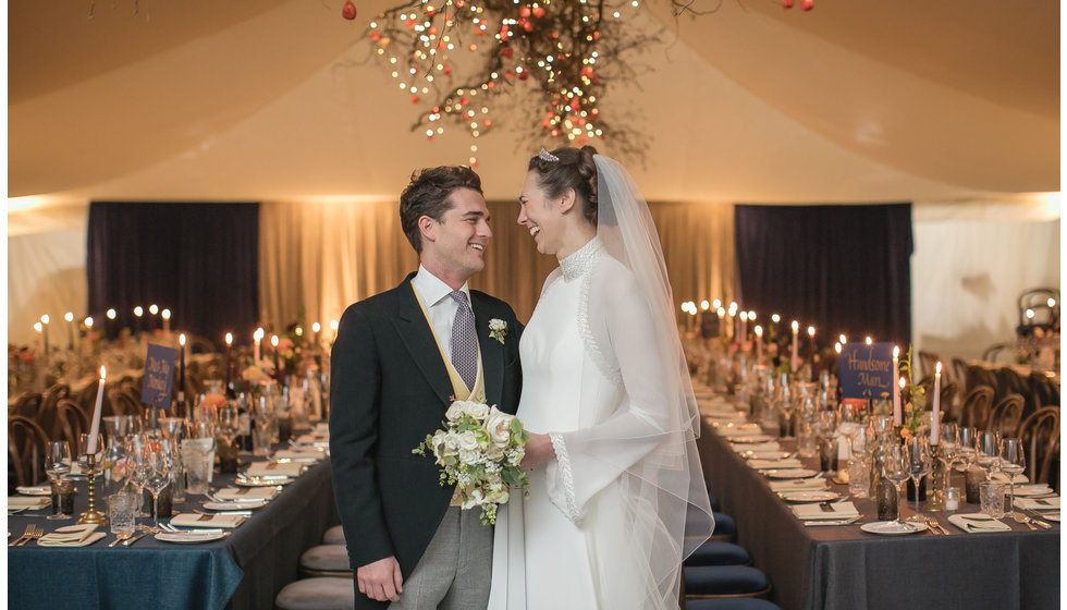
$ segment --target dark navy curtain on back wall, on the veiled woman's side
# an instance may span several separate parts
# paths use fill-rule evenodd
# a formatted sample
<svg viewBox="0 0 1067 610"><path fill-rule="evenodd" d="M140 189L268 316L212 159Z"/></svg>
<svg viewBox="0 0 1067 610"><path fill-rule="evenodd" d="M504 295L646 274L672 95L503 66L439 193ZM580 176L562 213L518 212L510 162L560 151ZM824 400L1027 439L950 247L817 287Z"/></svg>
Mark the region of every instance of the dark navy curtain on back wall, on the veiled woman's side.
<svg viewBox="0 0 1067 610"><path fill-rule="evenodd" d="M911 204L736 206L739 304L800 321L821 347L849 341L911 340Z"/></svg>

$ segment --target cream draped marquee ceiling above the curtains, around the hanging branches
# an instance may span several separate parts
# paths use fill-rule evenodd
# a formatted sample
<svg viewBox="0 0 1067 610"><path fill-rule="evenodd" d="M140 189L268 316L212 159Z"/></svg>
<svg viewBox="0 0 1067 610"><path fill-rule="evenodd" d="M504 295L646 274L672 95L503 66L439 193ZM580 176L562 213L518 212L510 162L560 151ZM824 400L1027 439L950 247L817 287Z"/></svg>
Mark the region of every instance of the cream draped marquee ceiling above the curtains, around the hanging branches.
<svg viewBox="0 0 1067 610"><path fill-rule="evenodd" d="M394 199L416 167L466 162L363 28L395 1L132 0L9 7L9 195ZM648 135L650 200L946 200L1059 190L1059 3L697 0L604 112ZM515 117L511 118L514 121ZM511 125L514 126L514 125ZM530 145L477 141L487 196L512 199ZM611 143L598 144L611 155Z"/></svg>

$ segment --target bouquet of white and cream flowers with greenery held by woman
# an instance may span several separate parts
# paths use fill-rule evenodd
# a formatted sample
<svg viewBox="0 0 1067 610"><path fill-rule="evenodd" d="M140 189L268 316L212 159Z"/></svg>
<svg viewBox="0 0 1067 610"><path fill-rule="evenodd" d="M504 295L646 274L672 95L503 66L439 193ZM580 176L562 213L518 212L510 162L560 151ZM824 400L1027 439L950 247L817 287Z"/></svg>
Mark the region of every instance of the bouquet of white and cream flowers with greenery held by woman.
<svg viewBox="0 0 1067 610"><path fill-rule="evenodd" d="M496 507L510 498L508 487L526 487L519 464L530 435L514 415L480 402L455 401L444 417L443 430L427 435L412 450L433 452L441 466L441 485L456 485L464 510L481 509L481 522L496 523Z"/></svg>

